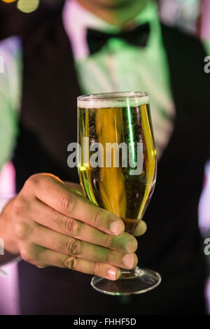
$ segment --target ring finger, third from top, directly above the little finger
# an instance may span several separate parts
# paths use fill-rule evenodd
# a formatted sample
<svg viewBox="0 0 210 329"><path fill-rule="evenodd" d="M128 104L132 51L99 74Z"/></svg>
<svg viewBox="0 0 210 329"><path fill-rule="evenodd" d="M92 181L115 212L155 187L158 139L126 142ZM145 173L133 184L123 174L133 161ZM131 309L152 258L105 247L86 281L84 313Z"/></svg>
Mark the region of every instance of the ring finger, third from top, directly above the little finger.
<svg viewBox="0 0 210 329"><path fill-rule="evenodd" d="M34 227L31 240L38 246L93 262L109 263L125 269L131 269L137 265L137 255L134 253L111 251L103 246L62 235L41 225Z"/></svg>

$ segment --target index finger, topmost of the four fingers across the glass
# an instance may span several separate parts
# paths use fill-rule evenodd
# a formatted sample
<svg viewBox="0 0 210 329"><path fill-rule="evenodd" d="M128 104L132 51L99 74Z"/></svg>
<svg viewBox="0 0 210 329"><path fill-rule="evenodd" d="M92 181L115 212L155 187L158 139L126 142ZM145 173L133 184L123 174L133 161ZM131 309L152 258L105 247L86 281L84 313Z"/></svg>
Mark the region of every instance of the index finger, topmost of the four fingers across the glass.
<svg viewBox="0 0 210 329"><path fill-rule="evenodd" d="M51 174L31 176L31 188L39 200L66 216L112 235L120 235L125 230L120 218L95 206Z"/></svg>

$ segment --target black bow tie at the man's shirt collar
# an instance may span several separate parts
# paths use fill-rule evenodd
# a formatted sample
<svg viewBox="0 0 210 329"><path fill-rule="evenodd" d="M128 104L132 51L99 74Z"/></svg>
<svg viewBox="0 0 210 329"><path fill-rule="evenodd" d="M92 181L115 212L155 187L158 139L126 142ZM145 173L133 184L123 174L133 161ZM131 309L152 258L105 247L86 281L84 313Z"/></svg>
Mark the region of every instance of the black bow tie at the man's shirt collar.
<svg viewBox="0 0 210 329"><path fill-rule="evenodd" d="M94 54L94 52L99 51L110 38L120 38L132 45L144 47L148 41L149 31L150 26L148 23L139 25L132 31L122 31L118 34L87 29L87 44L91 55Z"/></svg>

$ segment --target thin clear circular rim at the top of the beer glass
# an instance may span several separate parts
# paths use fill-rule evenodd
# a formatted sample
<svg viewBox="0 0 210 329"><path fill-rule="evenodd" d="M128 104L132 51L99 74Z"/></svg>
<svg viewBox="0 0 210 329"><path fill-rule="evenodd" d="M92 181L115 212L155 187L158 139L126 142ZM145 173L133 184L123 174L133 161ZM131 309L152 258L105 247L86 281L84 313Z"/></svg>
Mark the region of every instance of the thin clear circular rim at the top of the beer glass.
<svg viewBox="0 0 210 329"><path fill-rule="evenodd" d="M107 101L116 100L123 101L125 99L137 99L140 97L148 96L148 92L100 92L97 94L84 94L77 97L78 101Z"/></svg>

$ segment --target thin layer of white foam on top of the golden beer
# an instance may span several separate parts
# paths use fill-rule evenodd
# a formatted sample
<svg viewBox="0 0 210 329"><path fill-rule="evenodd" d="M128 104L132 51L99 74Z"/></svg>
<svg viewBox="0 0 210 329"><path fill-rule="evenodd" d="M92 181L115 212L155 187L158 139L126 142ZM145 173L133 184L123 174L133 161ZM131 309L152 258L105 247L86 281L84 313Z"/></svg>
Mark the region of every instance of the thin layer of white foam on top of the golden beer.
<svg viewBox="0 0 210 329"><path fill-rule="evenodd" d="M82 109L109 109L109 108L121 108L127 106L141 106L148 104L148 94L144 93L140 97L138 94L130 95L125 98L116 97L116 98L96 98L94 95L90 95L89 97L78 97L78 107ZM126 97L126 94L125 94ZM85 99L86 98L86 99ZM92 99L91 99L92 98Z"/></svg>

